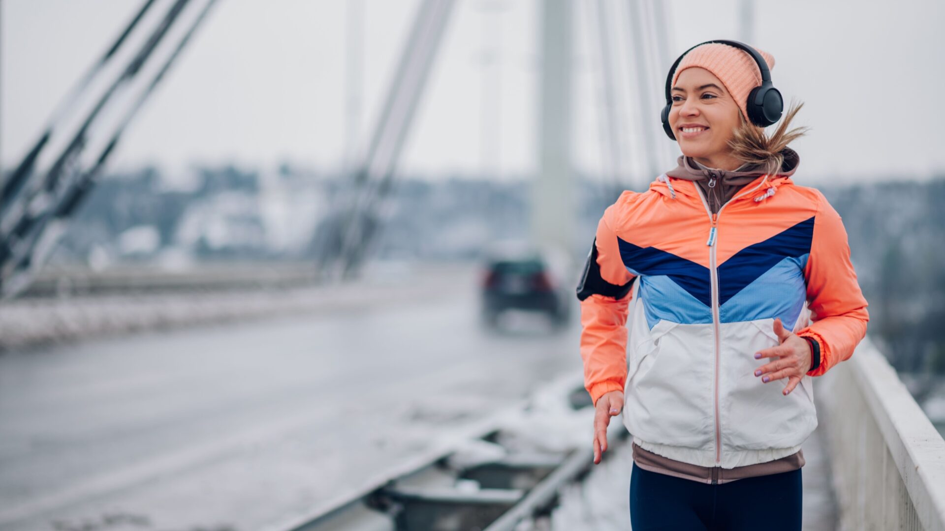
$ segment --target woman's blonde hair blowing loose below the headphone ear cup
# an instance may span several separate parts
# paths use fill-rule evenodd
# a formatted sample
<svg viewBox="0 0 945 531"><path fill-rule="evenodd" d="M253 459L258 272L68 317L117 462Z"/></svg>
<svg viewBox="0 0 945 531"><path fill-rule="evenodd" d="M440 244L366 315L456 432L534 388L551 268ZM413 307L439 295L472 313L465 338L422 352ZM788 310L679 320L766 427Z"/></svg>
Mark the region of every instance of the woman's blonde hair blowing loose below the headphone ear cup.
<svg viewBox="0 0 945 531"><path fill-rule="evenodd" d="M810 128L800 127L787 130L794 119L794 115L803 107L803 102L791 102L791 107L781 121L778 128L768 136L765 128L760 128L745 119L745 115L738 113L742 120L740 127L735 128L734 136L729 141L731 156L758 167L767 175L775 175L781 171L784 163L782 150L788 144L803 136Z"/></svg>

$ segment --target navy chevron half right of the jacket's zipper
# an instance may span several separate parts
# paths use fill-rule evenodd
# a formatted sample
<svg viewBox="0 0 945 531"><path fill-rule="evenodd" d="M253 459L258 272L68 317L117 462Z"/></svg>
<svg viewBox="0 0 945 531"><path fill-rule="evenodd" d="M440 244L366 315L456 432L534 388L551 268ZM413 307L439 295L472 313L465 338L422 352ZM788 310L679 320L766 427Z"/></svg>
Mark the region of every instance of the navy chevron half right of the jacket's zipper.
<svg viewBox="0 0 945 531"><path fill-rule="evenodd" d="M814 217L785 229L763 242L736 252L718 266L718 304L730 300L749 283L786 257L800 258L811 251L814 238Z"/></svg>

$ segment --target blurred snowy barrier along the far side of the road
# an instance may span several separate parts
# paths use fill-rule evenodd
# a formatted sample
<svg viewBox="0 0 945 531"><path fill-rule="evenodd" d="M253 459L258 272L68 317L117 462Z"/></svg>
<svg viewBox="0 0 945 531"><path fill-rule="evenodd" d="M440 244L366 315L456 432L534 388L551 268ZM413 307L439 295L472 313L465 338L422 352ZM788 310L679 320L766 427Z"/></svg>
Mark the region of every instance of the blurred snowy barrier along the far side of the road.
<svg viewBox="0 0 945 531"><path fill-rule="evenodd" d="M368 264L362 279L317 283L314 267L298 264L201 266L177 273L50 267L36 291L0 300L0 351L237 319L334 314L376 306L378 300L415 304L455 296L457 283L473 285L473 273L472 265L461 263Z"/></svg>

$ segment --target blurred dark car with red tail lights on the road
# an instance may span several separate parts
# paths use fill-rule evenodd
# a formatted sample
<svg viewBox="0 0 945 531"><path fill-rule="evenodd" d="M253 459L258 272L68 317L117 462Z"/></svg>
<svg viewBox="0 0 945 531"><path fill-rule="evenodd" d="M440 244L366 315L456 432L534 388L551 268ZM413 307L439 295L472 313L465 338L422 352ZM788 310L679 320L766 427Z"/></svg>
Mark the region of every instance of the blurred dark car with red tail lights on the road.
<svg viewBox="0 0 945 531"><path fill-rule="evenodd" d="M502 312L523 310L543 313L555 327L564 326L576 300L569 271L560 253L521 245L491 249L481 277L484 323L494 328Z"/></svg>

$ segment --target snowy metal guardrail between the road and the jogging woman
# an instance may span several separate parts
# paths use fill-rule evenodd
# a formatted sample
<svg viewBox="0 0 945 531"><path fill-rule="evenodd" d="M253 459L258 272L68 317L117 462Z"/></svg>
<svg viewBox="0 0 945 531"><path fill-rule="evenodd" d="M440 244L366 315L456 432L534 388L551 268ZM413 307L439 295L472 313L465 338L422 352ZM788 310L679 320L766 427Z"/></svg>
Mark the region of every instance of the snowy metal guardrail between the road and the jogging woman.
<svg viewBox="0 0 945 531"><path fill-rule="evenodd" d="M587 445L576 447L573 441L561 440L535 447L536 439L523 437L516 428L532 415L545 422L548 415L560 421L558 415L565 411L587 413L565 416L590 427L593 410L579 374L544 385L531 398L453 434L426 454L341 492L310 514L290 515L265 531L521 528L528 525L526 521L549 514L559 491L580 481L593 462ZM614 445L627 438L620 422L610 422L608 434Z"/></svg>

